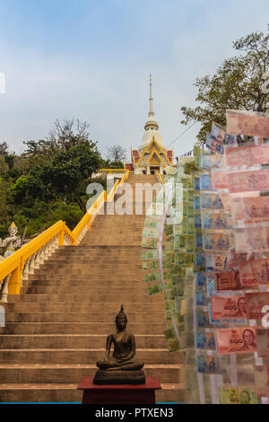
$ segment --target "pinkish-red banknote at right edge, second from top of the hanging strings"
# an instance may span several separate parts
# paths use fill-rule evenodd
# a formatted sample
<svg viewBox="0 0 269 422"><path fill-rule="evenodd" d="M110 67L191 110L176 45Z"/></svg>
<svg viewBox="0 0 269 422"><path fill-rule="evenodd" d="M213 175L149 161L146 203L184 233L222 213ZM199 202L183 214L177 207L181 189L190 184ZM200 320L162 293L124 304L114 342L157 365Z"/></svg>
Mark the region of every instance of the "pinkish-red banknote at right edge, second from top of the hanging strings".
<svg viewBox="0 0 269 422"><path fill-rule="evenodd" d="M225 165L269 164L269 145L246 145L225 148Z"/></svg>

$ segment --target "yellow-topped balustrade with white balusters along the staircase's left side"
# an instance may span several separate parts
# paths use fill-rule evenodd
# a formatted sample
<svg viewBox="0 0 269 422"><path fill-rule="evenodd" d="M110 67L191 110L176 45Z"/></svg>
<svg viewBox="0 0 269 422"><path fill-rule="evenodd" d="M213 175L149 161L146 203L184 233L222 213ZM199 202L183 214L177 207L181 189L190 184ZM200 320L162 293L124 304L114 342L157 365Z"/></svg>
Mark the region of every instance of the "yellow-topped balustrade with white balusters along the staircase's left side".
<svg viewBox="0 0 269 422"><path fill-rule="evenodd" d="M116 181L108 197L106 190L100 194L88 212L83 215L82 220L75 226L73 232L65 222L60 220L0 263L0 286L2 286L0 302L7 302L7 295L20 295L23 280L33 274L34 269L39 268L39 265L48 259L58 246L64 244L75 246L80 242L82 236L91 229L93 218L99 213L101 205L114 198L117 187L122 186L129 176L129 170L115 170L125 172L122 179ZM114 169L101 171L112 172Z"/></svg>

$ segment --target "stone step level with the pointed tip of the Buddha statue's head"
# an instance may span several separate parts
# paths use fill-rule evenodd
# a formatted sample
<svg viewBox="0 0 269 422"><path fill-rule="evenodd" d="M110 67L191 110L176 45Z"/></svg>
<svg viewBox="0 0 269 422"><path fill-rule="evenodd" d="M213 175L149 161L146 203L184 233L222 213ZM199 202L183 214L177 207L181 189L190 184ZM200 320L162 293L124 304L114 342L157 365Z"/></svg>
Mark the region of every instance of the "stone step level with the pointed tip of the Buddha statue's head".
<svg viewBox="0 0 269 422"><path fill-rule="evenodd" d="M104 312L104 303L74 303L74 302L59 302L59 303L33 303L33 302L17 302L17 303L3 303L5 312ZM148 303L124 303L125 312L140 313L148 312ZM151 312L163 312L165 310L164 303L151 303ZM119 303L108 302L106 303L106 312L119 311ZM114 319L112 320L114 321Z"/></svg>

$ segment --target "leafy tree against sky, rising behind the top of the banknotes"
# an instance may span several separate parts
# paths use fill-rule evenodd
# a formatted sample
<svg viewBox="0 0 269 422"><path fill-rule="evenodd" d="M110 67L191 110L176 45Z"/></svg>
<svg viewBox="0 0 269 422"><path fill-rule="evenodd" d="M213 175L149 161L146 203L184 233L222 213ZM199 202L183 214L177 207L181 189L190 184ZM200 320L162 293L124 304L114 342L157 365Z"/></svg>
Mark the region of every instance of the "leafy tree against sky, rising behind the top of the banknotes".
<svg viewBox="0 0 269 422"><path fill-rule="evenodd" d="M197 135L200 144L205 142L213 121L226 126L226 110L257 110L269 108L269 24L268 33L252 32L233 42L233 48L242 53L225 59L213 76L195 80L198 88L194 109L182 107L185 119L202 123Z"/></svg>

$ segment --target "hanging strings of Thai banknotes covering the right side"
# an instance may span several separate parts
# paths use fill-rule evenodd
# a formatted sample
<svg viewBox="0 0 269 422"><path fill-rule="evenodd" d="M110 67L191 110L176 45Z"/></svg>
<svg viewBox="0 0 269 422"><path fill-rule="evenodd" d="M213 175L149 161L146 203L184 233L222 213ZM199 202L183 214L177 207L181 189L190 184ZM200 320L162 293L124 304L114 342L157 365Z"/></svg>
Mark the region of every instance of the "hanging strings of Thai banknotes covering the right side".
<svg viewBox="0 0 269 422"><path fill-rule="evenodd" d="M165 335L170 351L184 350L189 403L269 402L267 138L268 115L228 110L207 151L195 147L166 176L182 190L165 219L145 220L144 277L150 294L164 291Z"/></svg>

